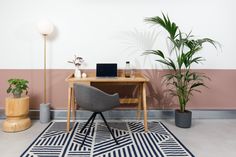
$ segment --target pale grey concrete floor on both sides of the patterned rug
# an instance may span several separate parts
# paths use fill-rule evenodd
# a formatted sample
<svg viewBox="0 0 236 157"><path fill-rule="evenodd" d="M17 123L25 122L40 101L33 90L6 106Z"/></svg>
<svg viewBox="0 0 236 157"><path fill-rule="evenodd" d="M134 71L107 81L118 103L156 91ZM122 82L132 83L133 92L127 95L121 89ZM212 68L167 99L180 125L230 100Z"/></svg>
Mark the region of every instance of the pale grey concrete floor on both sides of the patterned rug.
<svg viewBox="0 0 236 157"><path fill-rule="evenodd" d="M2 122L0 120L1 127ZM196 157L236 157L236 119L195 119L189 129L176 127L173 119L162 119L161 122ZM23 132L0 131L0 156L20 156L46 126L33 121L32 127Z"/></svg>

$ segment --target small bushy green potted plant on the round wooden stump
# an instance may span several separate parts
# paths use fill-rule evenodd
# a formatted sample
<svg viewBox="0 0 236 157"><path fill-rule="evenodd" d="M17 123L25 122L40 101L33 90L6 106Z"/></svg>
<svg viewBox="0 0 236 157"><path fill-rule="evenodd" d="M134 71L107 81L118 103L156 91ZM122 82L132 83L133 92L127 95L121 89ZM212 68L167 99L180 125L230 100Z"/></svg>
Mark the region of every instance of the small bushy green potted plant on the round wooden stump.
<svg viewBox="0 0 236 157"><path fill-rule="evenodd" d="M7 93L12 93L14 98L20 98L21 94L25 91L28 94L28 83L29 81L24 79L9 79L9 87Z"/></svg>

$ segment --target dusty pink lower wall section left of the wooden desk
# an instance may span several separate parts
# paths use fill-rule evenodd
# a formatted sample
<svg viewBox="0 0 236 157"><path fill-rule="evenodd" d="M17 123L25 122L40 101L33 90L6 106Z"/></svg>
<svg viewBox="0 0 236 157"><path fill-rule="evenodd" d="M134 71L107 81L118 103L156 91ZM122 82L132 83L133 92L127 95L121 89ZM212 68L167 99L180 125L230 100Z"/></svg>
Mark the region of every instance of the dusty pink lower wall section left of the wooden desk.
<svg viewBox="0 0 236 157"><path fill-rule="evenodd" d="M47 70L47 100L55 109L66 107L67 83L65 78L73 70ZM4 107L5 97L8 96L7 80L23 78L29 81L30 108L38 109L43 102L43 70L0 70L0 107Z"/></svg>

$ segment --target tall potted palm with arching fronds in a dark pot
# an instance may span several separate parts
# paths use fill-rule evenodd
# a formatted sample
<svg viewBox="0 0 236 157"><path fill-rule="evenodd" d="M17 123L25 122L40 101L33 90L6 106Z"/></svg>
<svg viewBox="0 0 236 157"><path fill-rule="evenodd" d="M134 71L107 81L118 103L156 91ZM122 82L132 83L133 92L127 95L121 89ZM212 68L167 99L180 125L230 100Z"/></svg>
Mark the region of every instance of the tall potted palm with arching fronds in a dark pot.
<svg viewBox="0 0 236 157"><path fill-rule="evenodd" d="M191 66L204 61L204 58L198 54L204 43L209 43L215 48L218 43L210 38L198 39L191 32L183 33L174 22L171 22L168 15L163 13L162 17L146 18L145 21L159 25L168 33L167 40L171 45L168 54L159 49L147 50L144 54L158 56L156 61L170 69L169 73L164 75L164 81L170 93L178 98L180 108L175 110L175 124L178 127L189 128L192 113L186 110L186 105L194 92L201 92L198 87L206 87L204 79L209 79L203 73L192 71Z"/></svg>

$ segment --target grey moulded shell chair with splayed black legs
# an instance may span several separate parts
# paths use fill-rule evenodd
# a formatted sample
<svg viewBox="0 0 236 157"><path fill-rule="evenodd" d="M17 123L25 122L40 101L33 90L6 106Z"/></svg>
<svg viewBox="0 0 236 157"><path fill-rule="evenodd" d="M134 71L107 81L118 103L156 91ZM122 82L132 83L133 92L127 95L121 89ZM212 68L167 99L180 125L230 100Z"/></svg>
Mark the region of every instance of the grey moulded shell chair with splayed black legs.
<svg viewBox="0 0 236 157"><path fill-rule="evenodd" d="M118 141L115 138L113 132L111 131L109 125L107 124L107 121L104 118L102 112L111 110L112 108L120 105L119 94L116 93L113 95L109 95L95 87L87 86L83 84L74 84L74 90L75 90L76 103L79 104L81 108L93 112L92 116L88 119L86 124L80 130L80 133L82 133L83 130L86 128L86 126L91 122L86 132L86 135L83 139L83 142L80 145L80 148L83 146L85 139L90 132L90 128L97 114L101 115L113 139L118 144Z"/></svg>

